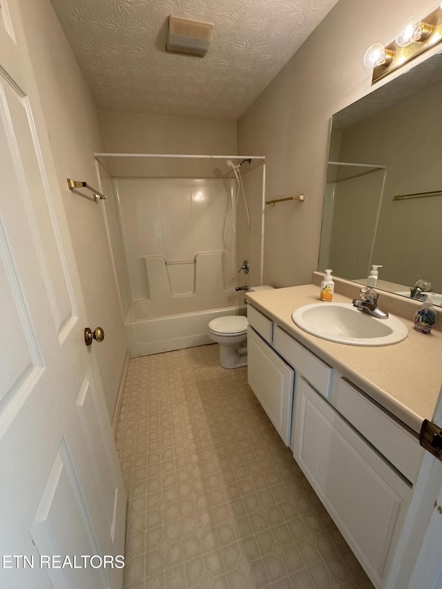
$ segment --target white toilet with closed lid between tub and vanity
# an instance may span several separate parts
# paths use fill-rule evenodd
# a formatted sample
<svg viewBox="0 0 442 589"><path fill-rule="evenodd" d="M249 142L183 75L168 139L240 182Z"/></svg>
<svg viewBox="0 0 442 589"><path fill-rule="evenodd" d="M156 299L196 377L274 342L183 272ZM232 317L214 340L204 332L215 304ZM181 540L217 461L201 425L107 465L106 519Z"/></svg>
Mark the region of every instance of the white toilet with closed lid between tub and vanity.
<svg viewBox="0 0 442 589"><path fill-rule="evenodd" d="M250 287L248 292L273 289L265 284ZM247 317L227 315L209 321L209 338L220 344L220 365L223 368L247 366Z"/></svg>

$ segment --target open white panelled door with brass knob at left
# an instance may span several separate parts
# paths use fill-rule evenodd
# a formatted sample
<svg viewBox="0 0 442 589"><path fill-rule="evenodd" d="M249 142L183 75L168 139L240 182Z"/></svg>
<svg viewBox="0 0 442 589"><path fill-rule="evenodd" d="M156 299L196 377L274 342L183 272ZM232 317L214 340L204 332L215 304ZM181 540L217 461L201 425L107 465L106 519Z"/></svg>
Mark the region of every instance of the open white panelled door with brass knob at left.
<svg viewBox="0 0 442 589"><path fill-rule="evenodd" d="M118 588L126 496L27 51L1 0L0 586Z"/></svg>

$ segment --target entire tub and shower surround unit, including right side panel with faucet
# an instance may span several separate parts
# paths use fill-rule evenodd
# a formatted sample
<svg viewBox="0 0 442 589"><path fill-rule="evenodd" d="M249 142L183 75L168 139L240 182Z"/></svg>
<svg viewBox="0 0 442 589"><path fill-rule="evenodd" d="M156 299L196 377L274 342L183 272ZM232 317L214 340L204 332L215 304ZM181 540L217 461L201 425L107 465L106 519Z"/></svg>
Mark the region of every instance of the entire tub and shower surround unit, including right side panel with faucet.
<svg viewBox="0 0 442 589"><path fill-rule="evenodd" d="M215 177L107 183L105 210L131 356L210 343L210 320L245 315L244 293L235 287L261 281L262 168L242 174L247 210L239 181L217 165ZM251 270L238 275L246 258Z"/></svg>

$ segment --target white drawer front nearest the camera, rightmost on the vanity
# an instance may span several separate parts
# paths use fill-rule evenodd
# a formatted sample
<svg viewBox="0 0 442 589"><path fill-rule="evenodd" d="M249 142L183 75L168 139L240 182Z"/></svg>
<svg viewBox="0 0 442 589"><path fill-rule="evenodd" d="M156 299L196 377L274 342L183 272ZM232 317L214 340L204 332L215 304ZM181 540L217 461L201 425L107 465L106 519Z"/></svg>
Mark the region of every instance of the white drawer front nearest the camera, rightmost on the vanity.
<svg viewBox="0 0 442 589"><path fill-rule="evenodd" d="M415 436L343 378L333 405L406 479L416 481L424 450Z"/></svg>

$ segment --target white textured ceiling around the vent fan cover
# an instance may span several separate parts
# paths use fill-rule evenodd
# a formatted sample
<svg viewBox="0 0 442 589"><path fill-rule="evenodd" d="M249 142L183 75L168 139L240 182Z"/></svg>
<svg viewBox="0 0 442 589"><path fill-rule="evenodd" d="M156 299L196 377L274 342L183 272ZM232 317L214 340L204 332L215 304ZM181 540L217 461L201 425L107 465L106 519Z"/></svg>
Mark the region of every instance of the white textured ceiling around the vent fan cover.
<svg viewBox="0 0 442 589"><path fill-rule="evenodd" d="M100 108L237 119L337 0L51 0ZM214 24L167 53L169 15Z"/></svg>

